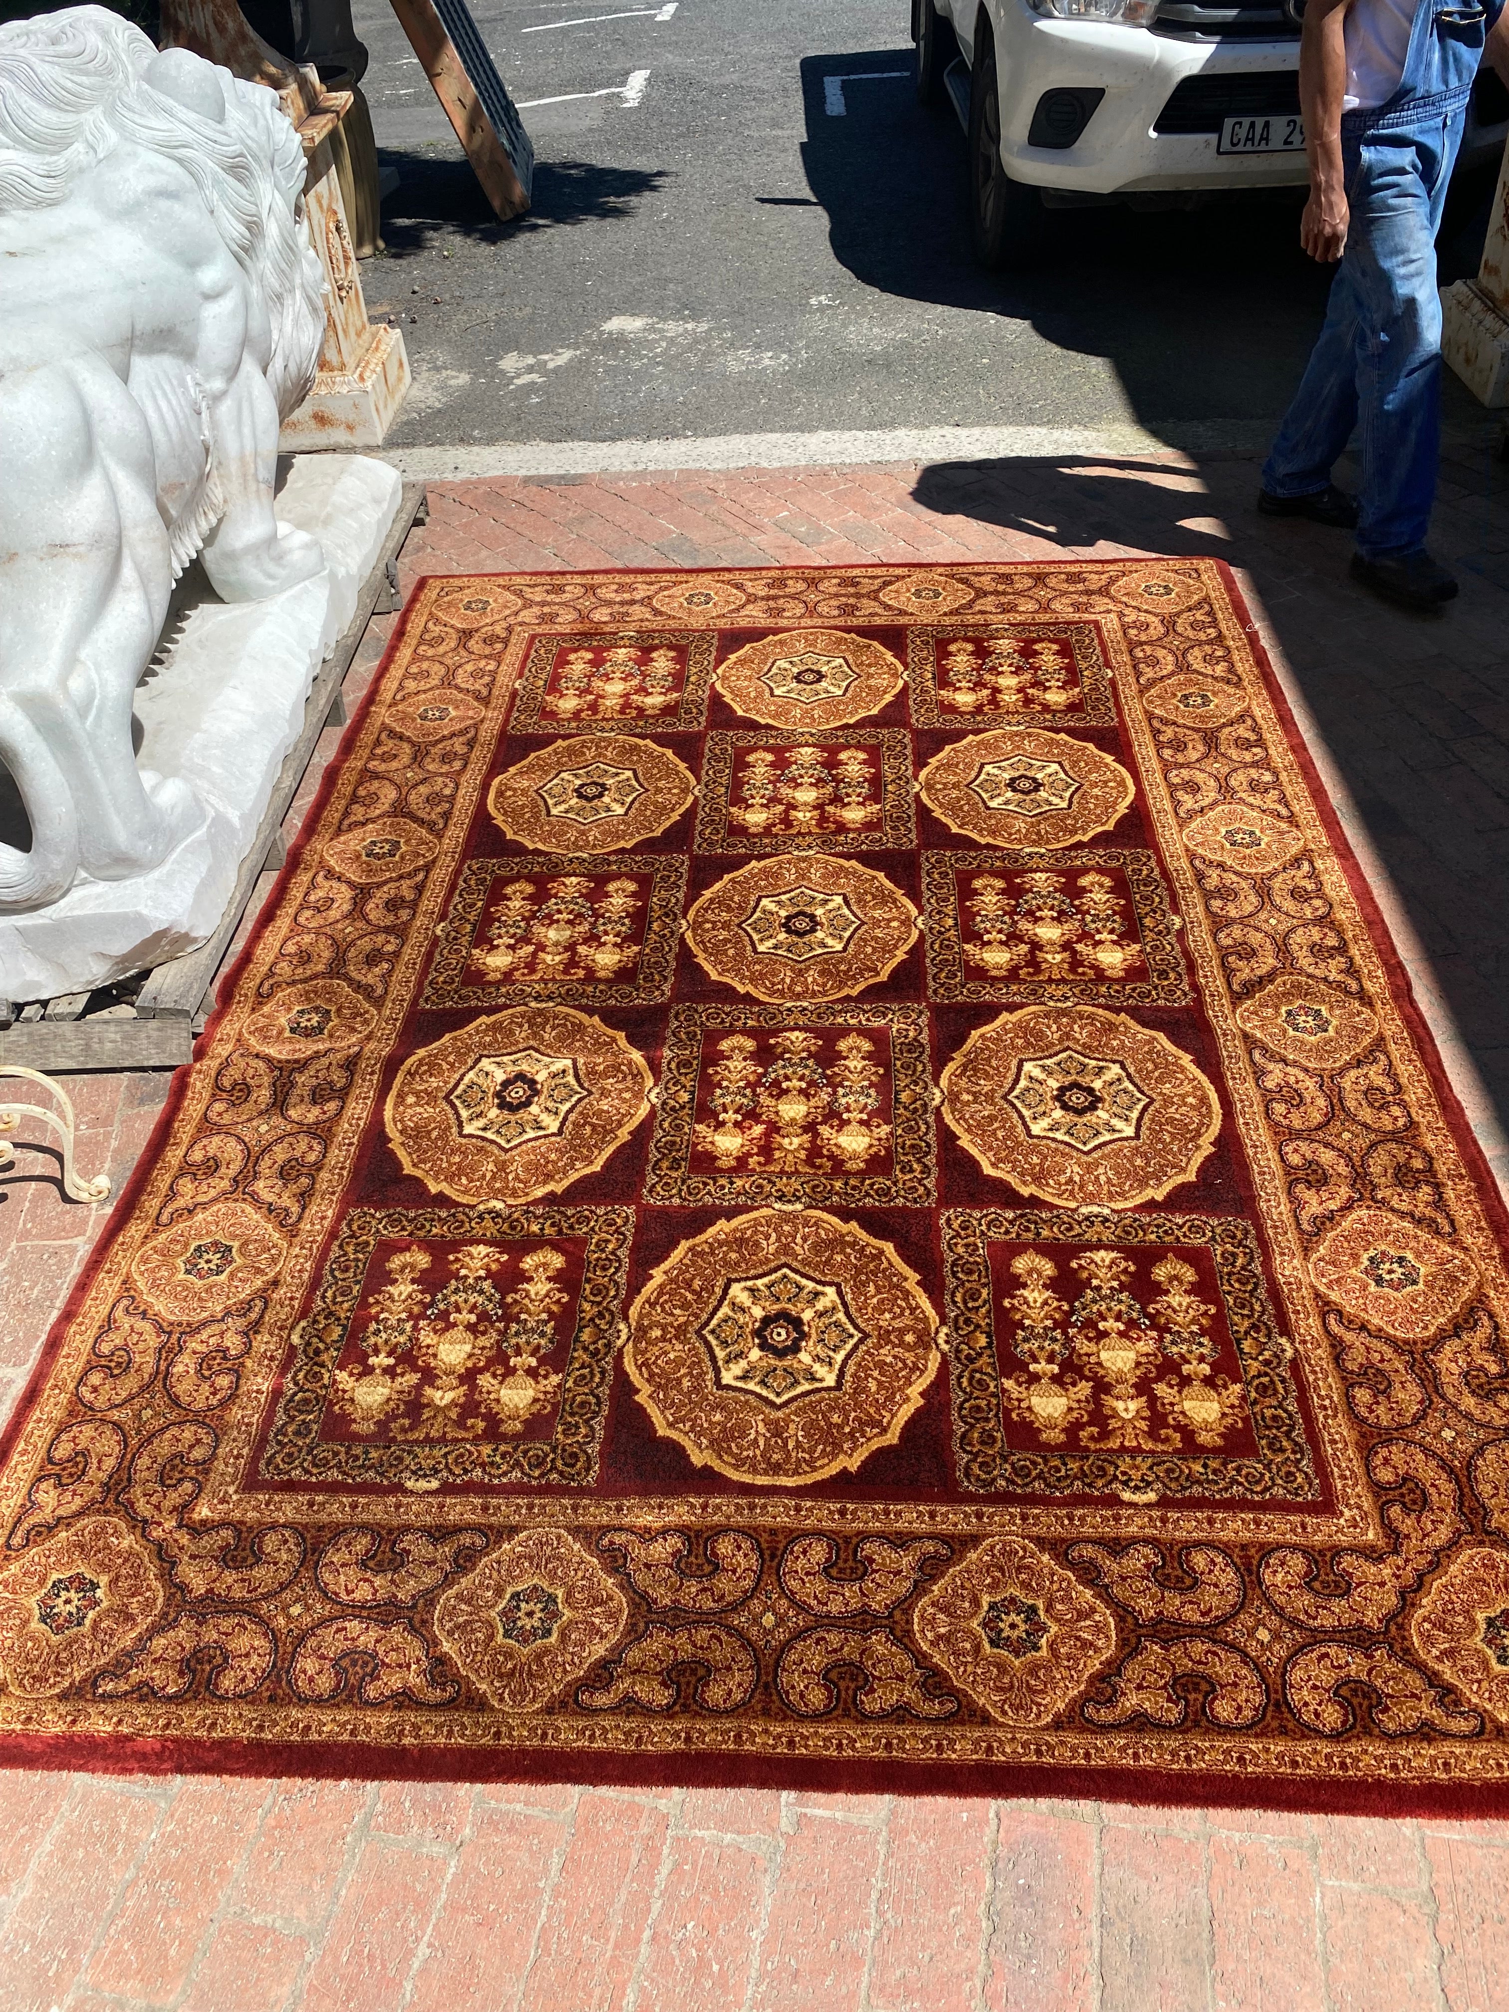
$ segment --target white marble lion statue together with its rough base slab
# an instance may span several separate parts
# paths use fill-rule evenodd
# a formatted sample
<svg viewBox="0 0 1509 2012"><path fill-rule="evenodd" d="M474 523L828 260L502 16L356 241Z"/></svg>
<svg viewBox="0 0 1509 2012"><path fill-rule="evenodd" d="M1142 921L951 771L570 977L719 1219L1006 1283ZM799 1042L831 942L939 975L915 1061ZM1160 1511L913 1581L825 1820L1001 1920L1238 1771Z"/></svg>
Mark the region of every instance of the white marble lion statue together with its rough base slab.
<svg viewBox="0 0 1509 2012"><path fill-rule="evenodd" d="M336 284L300 131L101 6L0 22L8 1000L213 934L398 507L356 459L276 497Z"/></svg>

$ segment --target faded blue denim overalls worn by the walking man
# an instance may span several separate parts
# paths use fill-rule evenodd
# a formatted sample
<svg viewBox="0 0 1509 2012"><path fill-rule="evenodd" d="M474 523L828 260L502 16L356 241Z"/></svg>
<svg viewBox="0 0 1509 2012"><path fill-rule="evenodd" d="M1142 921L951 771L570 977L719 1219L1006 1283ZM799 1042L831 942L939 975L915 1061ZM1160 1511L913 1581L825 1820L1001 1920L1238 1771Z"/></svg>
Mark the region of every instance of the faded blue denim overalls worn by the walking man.
<svg viewBox="0 0 1509 2012"><path fill-rule="evenodd" d="M1467 99L1501 6L1420 0L1394 97L1342 115L1346 254L1262 483L1278 497L1322 491L1360 425L1356 541L1368 559L1420 551L1431 523L1441 449L1435 239Z"/></svg>

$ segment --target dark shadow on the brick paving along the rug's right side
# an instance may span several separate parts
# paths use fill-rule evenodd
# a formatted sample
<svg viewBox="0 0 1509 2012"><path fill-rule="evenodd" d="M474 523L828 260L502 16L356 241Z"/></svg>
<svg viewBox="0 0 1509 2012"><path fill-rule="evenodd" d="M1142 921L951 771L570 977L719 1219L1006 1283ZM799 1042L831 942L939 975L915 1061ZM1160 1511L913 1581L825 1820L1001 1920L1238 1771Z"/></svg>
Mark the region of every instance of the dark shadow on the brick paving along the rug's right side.
<svg viewBox="0 0 1509 2012"><path fill-rule="evenodd" d="M1433 549L1461 600L1408 616L1348 577L1346 533L1260 517L1258 457L976 461L913 499L1022 539L1223 557L1258 602L1509 1129L1509 465L1501 416L1449 445ZM1338 471L1346 487L1356 469ZM1416 976L1416 986L1418 986Z"/></svg>

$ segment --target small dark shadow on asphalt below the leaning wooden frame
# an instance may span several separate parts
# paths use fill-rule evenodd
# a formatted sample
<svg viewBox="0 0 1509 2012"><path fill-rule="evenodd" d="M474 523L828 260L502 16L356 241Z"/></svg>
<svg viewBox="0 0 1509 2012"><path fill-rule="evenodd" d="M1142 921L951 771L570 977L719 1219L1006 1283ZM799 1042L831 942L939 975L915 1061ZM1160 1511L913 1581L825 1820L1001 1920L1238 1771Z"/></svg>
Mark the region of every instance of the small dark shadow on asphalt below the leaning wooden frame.
<svg viewBox="0 0 1509 2012"><path fill-rule="evenodd" d="M423 252L441 233L507 243L561 225L614 223L632 217L670 179L664 167L537 161L531 207L499 223L467 161L392 147L380 147L378 161L398 171L398 187L382 203L382 237L396 256Z"/></svg>

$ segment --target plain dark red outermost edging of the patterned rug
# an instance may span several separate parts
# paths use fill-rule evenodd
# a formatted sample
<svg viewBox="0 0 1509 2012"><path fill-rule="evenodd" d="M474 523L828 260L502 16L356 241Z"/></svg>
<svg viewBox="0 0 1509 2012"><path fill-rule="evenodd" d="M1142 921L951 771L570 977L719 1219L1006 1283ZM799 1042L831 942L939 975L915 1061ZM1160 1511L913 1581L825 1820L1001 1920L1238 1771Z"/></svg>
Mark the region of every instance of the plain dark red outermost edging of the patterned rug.
<svg viewBox="0 0 1509 2012"><path fill-rule="evenodd" d="M1177 553L1143 553L1143 561L1179 559ZM1042 565L1115 565L1115 559L1064 557L1054 559L871 559L861 565L845 565L847 573L861 571L966 571L974 567L998 569L1040 569ZM1237 616L1241 634L1251 650L1258 672L1274 702L1280 726L1286 732L1310 801L1322 829L1330 839L1342 875L1362 911L1368 936L1390 980L1394 1002L1406 1024L1410 1038L1420 1050L1420 1058L1431 1072L1433 1086L1441 1099L1443 1121L1463 1155L1467 1173L1473 1177L1485 1215L1497 1235L1509 1243L1509 1201L1489 1165L1471 1119L1463 1107L1457 1084L1447 1070L1435 1030L1427 1020L1392 938L1392 930L1382 913L1372 883L1362 863L1352 851L1352 843L1342 827L1330 789L1324 783L1316 757L1290 704L1290 696L1280 680L1274 660L1268 654L1262 632L1251 618L1247 596L1227 559L1201 557L1197 563L1213 565L1221 585ZM421 573L408 592L392 634L372 668L366 692L354 706L350 720L326 763L320 785L300 823L298 837L288 847L288 857L278 871L274 885L264 897L266 913L282 899L288 877L298 869L306 847L312 843L320 817L334 791L340 761L346 754L358 728L364 724L368 708L382 688L382 680L394 654L402 648L410 622L416 614L425 588L445 579L511 579L511 577L553 577L555 573L759 573L759 571L825 571L827 567L730 567L730 565L596 565L596 567L541 567L533 571L497 573ZM207 1056L207 1044L219 1030L221 1018L241 980L243 968L256 944L256 930L247 936L235 960L227 968L215 992L215 1006L205 1020L203 1032L193 1042L191 1064ZM205 1044L205 1046L201 1046ZM10 1457L16 1437L26 1422L32 1404L40 1398L48 1374L62 1348L64 1334L78 1304L95 1282L105 1260L105 1251L137 1203L139 1191L149 1179L151 1163L169 1135L189 1086L189 1068L177 1068L175 1080L153 1123L147 1143L127 1177L111 1213L107 1215L89 1260L68 1290L58 1310L48 1338L42 1344L36 1364L26 1378L10 1418L0 1431L0 1463ZM382 1767L374 1767L374 1760ZM1459 1817L1459 1819L1501 1819L1509 1813L1509 1789L1501 1783L1400 1783L1388 1779L1374 1781L1274 1781L1264 1777L1247 1789L1245 1779L1211 1773L1171 1773L1145 1769L1129 1773L1125 1769L1095 1767L1010 1767L1002 1765L1004 1777L998 1785L980 1787L980 1767L954 1763L907 1763L883 1760L823 1760L823 1758L754 1758L748 1754L608 1754L583 1752L565 1754L549 1746L515 1748L497 1752L493 1748L469 1746L372 1746L366 1742L306 1742L280 1740L205 1740L205 1738L135 1738L129 1734L101 1732L46 1732L12 1734L0 1744L0 1769L44 1769L95 1775L221 1775L245 1779L308 1779L308 1781L435 1781L435 1783L513 1783L529 1785L571 1785L571 1787L628 1787L628 1789L700 1789L700 1787L746 1787L769 1791L809 1791L809 1793L853 1793L853 1795L934 1795L968 1801L1095 1801L1127 1807L1179 1807L1179 1809L1241 1809L1280 1811L1300 1815L1372 1815L1372 1817ZM897 1777L905 1777L903 1781Z"/></svg>

